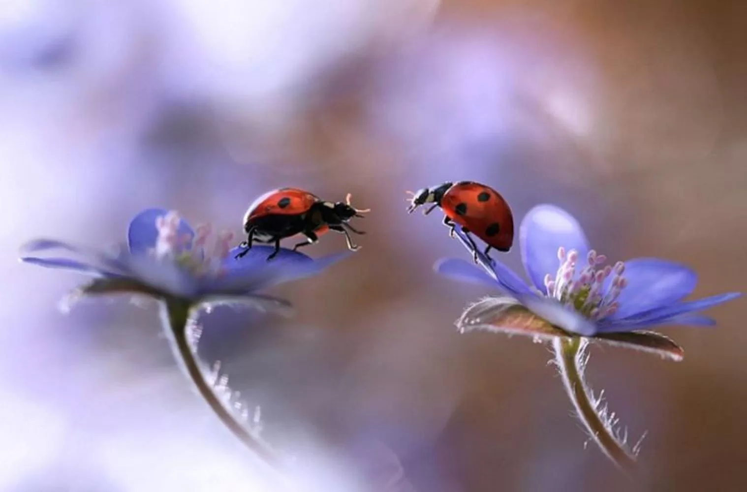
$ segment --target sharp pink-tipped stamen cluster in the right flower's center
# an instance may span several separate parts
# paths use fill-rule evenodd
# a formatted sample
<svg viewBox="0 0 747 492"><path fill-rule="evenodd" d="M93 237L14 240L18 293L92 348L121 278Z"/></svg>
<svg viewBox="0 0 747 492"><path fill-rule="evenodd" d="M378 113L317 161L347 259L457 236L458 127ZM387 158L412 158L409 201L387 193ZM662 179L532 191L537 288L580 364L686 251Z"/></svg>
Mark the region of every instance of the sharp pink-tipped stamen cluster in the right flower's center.
<svg viewBox="0 0 747 492"><path fill-rule="evenodd" d="M614 267L605 266L607 257L598 255L592 249L586 256L586 264L581 268L580 274L576 275L579 258L575 249L566 254L565 248L559 248L558 260L560 268L555 278L545 275L548 296L573 307L592 320L601 320L618 310L616 299L627 285L627 279L622 276L625 271L622 261L618 261ZM611 281L609 287L606 287L604 284L608 277L611 277Z"/></svg>

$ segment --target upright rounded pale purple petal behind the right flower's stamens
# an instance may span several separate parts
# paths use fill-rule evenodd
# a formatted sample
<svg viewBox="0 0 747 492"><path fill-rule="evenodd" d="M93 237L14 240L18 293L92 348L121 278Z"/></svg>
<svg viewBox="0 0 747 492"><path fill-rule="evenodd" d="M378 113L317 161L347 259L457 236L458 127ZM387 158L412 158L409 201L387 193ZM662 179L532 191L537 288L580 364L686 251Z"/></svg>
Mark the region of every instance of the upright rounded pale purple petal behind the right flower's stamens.
<svg viewBox="0 0 747 492"><path fill-rule="evenodd" d="M560 246L566 251L575 249L580 261L586 258L589 242L578 221L555 205L537 205L527 212L519 228L521 260L527 275L542 293L547 293L545 275L554 277L560 267L557 257Z"/></svg>

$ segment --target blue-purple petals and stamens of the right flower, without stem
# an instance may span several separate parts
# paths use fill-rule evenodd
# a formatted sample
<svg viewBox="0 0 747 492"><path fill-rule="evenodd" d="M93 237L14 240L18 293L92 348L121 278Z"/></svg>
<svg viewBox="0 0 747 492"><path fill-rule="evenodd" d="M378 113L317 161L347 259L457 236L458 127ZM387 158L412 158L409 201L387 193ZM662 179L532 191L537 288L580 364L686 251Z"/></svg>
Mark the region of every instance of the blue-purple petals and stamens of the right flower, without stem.
<svg viewBox="0 0 747 492"><path fill-rule="evenodd" d="M467 244L464 233L456 233ZM695 289L697 275L672 261L634 258L605 266L607 258L590 249L577 220L554 205L538 205L527 213L519 243L531 284L480 252L483 269L454 258L442 259L434 268L459 281L498 287L536 317L583 337L665 324L713 326L713 319L697 312L740 296L724 293L685 301ZM485 302L471 308L477 314L469 323L487 323L506 310L504 302Z"/></svg>

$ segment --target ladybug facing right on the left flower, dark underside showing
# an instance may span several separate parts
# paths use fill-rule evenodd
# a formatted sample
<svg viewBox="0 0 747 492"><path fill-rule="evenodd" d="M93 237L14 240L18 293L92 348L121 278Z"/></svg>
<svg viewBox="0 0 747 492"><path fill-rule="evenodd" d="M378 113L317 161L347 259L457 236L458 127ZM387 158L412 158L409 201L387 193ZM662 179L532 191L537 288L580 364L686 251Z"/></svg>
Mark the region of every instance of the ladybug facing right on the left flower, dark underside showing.
<svg viewBox="0 0 747 492"><path fill-rule="evenodd" d="M236 255L241 258L252 249L252 243L275 243L275 250L267 257L272 260L280 251L280 241L286 237L306 236L293 250L314 244L327 231L345 234L347 248L356 251L358 246L350 238L350 232L365 234L347 222L353 217L363 217L370 211L358 210L350 205L350 193L345 202L325 202L313 193L299 188L279 188L256 199L244 215L244 231L247 240L239 247L244 251Z"/></svg>

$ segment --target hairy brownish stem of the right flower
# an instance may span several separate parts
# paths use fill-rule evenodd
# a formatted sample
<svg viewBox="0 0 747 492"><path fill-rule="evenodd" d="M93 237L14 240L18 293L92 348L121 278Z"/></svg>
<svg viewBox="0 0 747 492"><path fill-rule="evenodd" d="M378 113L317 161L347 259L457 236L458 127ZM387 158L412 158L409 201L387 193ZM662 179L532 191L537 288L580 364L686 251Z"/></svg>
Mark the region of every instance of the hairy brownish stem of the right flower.
<svg viewBox="0 0 747 492"><path fill-rule="evenodd" d="M553 340L555 361L560 369L565 391L573 402L578 418L586 431L595 440L602 452L627 473L636 467L636 458L613 429L614 422L606 412L599 411L599 401L592 395L592 390L583 378L583 353L586 342L580 337L560 338Z"/></svg>

